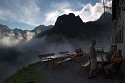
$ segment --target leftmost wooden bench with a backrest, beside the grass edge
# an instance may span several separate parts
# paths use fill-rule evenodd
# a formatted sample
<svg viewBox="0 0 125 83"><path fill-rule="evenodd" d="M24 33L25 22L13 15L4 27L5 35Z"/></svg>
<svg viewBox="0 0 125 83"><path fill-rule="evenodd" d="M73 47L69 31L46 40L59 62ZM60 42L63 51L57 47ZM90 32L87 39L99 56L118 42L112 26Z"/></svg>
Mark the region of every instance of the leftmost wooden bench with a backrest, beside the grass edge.
<svg viewBox="0 0 125 83"><path fill-rule="evenodd" d="M45 67L48 67L48 62L51 61L51 56L55 55L55 53L50 53L50 54L41 54L38 55L38 58L41 60L41 65L45 64ZM50 58L47 58L50 57Z"/></svg>

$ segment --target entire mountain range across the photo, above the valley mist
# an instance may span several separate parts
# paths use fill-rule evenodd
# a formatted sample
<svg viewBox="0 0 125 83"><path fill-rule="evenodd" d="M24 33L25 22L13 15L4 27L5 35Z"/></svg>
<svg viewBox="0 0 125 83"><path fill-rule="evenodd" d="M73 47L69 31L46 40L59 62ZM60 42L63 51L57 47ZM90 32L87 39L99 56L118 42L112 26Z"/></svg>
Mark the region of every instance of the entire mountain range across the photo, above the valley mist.
<svg viewBox="0 0 125 83"><path fill-rule="evenodd" d="M93 22L84 23L80 16L73 13L59 16L54 26L39 25L34 30L9 29L6 25L0 25L0 38L10 37L10 40L29 41L33 37L42 38L46 36L49 41L58 42L64 39L79 39L111 42L111 36L114 34L114 24L111 21L112 15L105 13Z"/></svg>

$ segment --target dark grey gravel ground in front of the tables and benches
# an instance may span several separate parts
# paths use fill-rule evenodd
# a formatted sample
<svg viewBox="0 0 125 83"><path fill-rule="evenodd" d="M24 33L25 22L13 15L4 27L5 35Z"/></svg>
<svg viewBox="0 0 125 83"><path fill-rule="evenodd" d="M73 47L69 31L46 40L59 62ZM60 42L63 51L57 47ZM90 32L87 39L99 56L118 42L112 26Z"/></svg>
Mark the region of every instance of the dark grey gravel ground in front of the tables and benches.
<svg viewBox="0 0 125 83"><path fill-rule="evenodd" d="M105 79L101 74L97 74L97 78L88 79L88 72L80 69L78 63L62 64L58 68L41 67L37 65L38 71L44 75L46 83L115 83L113 79Z"/></svg>

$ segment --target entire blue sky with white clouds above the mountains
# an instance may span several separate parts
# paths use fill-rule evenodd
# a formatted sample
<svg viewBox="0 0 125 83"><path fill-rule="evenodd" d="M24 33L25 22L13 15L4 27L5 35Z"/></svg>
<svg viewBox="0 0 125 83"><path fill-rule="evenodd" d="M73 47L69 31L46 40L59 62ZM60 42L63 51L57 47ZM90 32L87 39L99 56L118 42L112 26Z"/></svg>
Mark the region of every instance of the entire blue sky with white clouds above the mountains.
<svg viewBox="0 0 125 83"><path fill-rule="evenodd" d="M103 0L0 0L0 24L32 30L54 25L58 16L74 13L83 22L95 21L104 13ZM104 0L111 7L112 0ZM111 10L108 10L111 12Z"/></svg>

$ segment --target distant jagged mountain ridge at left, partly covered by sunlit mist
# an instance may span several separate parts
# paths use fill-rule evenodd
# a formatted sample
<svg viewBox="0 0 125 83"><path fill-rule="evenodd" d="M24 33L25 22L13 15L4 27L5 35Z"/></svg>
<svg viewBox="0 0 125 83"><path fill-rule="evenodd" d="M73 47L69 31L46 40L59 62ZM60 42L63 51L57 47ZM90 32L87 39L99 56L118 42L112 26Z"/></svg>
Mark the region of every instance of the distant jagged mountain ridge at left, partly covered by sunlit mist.
<svg viewBox="0 0 125 83"><path fill-rule="evenodd" d="M0 24L0 39L3 39L5 37L10 37L10 39L17 39L17 40L30 40L34 36L38 35L40 32L45 31L47 29L52 28L52 25L50 26L44 26L39 25L33 30L21 30L18 28L10 29L7 25Z"/></svg>

